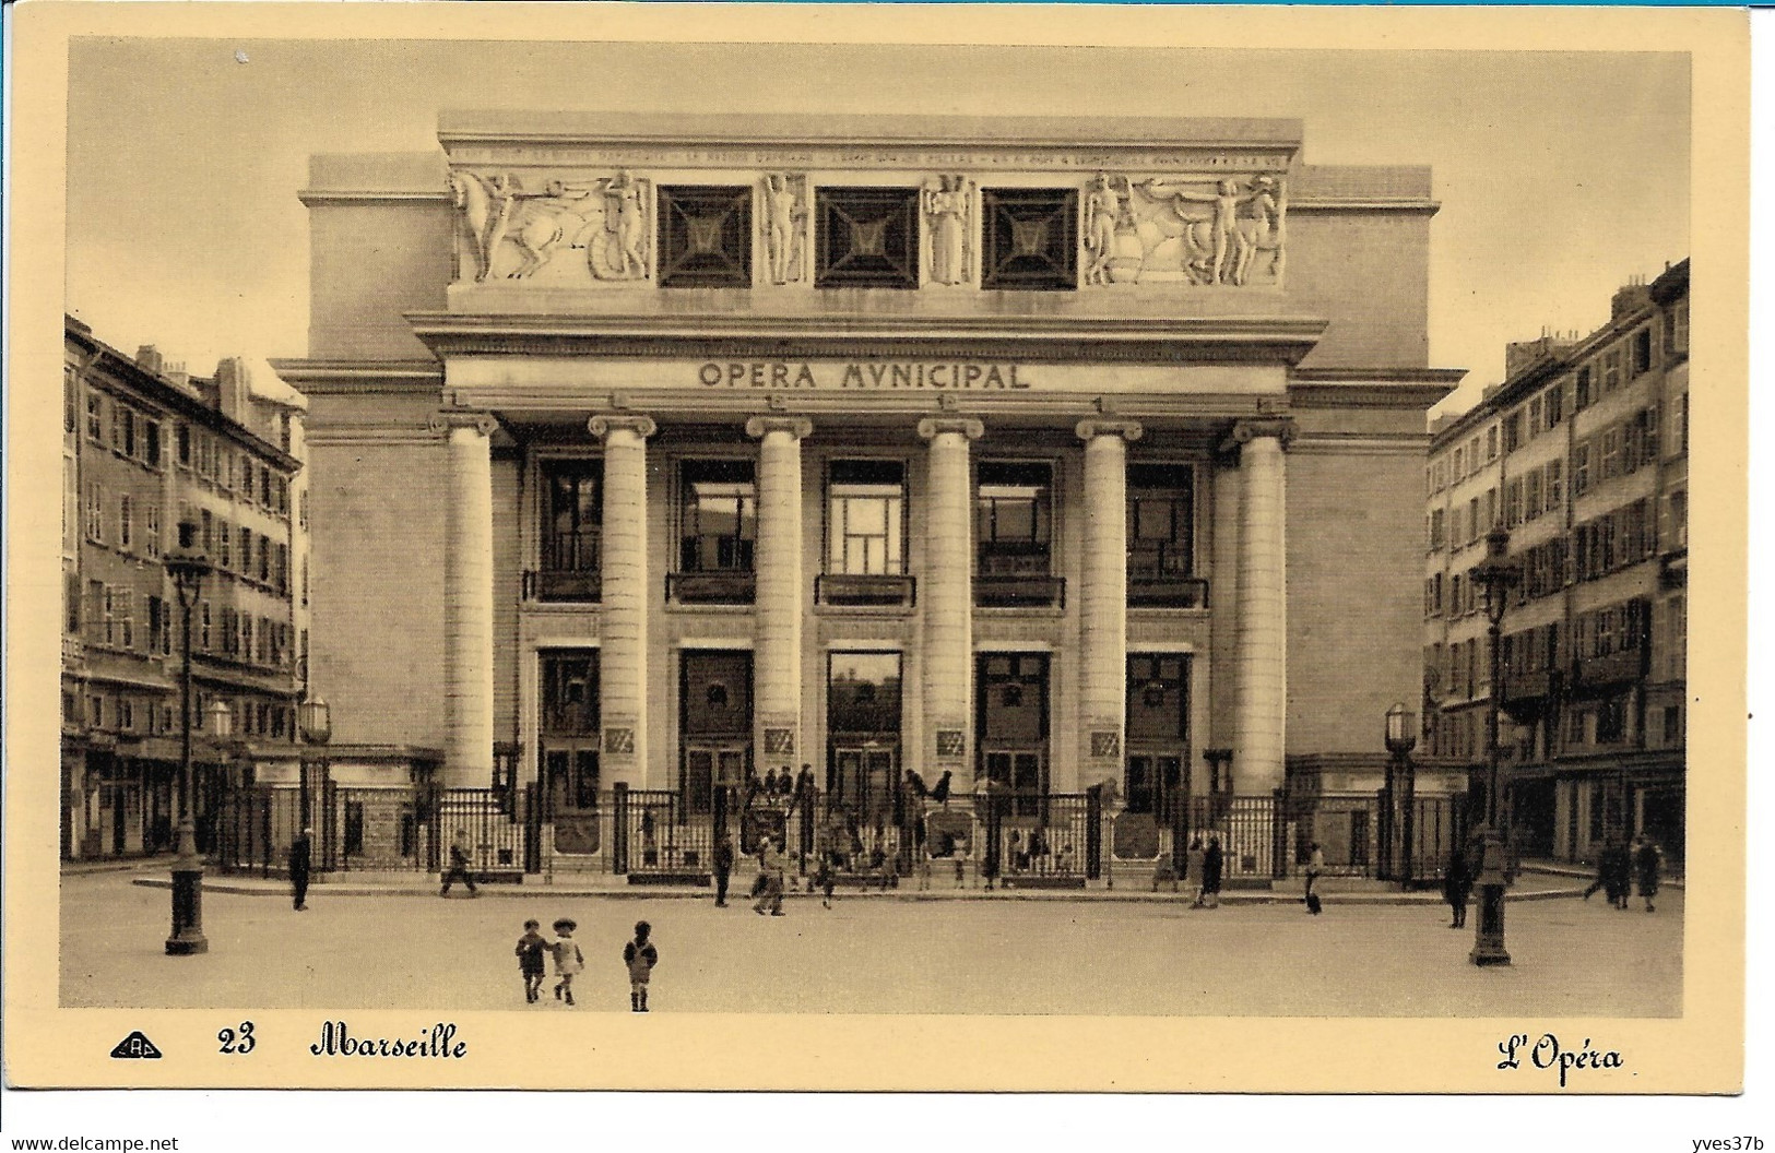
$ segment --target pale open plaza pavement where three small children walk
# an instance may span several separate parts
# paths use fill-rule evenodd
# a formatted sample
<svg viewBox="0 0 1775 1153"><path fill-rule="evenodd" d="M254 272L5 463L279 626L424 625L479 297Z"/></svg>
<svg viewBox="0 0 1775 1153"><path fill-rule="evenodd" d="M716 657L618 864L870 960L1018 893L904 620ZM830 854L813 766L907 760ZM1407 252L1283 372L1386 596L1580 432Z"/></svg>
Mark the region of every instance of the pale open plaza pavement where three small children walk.
<svg viewBox="0 0 1775 1153"><path fill-rule="evenodd" d="M206 890L209 953L163 956L163 873L62 878L62 1004L167 1008L625 1011L623 942L637 919L662 953L653 1006L678 1013L1090 1013L1262 1016L1676 1016L1683 894L1658 912L1578 899L1576 878L1525 878L1509 903L1507 969L1477 969L1471 928L1434 894L1409 903L1333 883L1310 917L1292 892L1228 894L1219 910L1122 883L1113 894L905 890L788 901L756 917L708 890L501 887L481 899L316 885L293 912L279 882ZM137 883L154 882L154 883ZM1118 882L1120 883L1120 882ZM483 887L493 892L493 887ZM932 899L907 899L928 896ZM1400 894L1392 894L1399 898ZM424 898L424 899L421 899ZM1477 915L1477 910L1470 914ZM527 917L580 924L577 1009L527 1006L513 942Z"/></svg>

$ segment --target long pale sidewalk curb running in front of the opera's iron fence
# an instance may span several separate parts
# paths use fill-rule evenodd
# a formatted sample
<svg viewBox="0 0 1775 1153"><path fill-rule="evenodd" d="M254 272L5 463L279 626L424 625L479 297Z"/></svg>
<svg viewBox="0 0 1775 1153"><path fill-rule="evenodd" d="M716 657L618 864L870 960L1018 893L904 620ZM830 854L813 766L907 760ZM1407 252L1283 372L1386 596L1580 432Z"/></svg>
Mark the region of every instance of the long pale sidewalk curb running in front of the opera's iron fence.
<svg viewBox="0 0 1775 1153"><path fill-rule="evenodd" d="M172 880L162 876L138 876L131 883L144 889L170 889ZM252 898L282 898L289 899L289 887L279 883L241 883L241 882L204 882L204 892L220 892L229 896L252 896ZM573 898L573 899L611 899L611 901L714 901L715 894L706 889L666 889L666 887L644 887L644 889L584 889L572 885L483 885L481 894L493 898ZM351 885L351 883L332 883L332 885L314 885L309 889L314 898L426 898L431 901L438 899L467 899L467 898L440 898L433 889L419 887L394 887L394 885ZM808 901L818 899L816 892L786 892L783 894L788 901ZM1525 892L1512 892L1507 899L1511 901L1553 901L1562 898L1582 898L1583 889L1535 889ZM730 905L740 906L749 898L740 896L735 890ZM1056 890L1056 892L1033 892L1033 890L998 890L985 892L980 889L960 889L960 890L870 890L870 892L847 892L838 898L840 901L1038 901L1038 903L1072 903L1072 905L1182 905L1189 906L1187 898L1182 894L1152 894L1152 892L1108 892L1108 890ZM1296 894L1282 892L1223 892L1221 905L1301 905L1301 898ZM1441 894L1432 892L1328 892L1324 894L1326 905L1445 905Z"/></svg>

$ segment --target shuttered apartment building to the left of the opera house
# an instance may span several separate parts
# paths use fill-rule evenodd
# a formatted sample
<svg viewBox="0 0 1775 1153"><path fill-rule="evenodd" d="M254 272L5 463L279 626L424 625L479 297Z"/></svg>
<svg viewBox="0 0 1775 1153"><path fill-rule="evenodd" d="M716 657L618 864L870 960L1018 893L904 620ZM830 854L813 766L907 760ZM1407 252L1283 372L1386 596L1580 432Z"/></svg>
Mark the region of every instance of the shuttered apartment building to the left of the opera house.
<svg viewBox="0 0 1775 1153"><path fill-rule="evenodd" d="M302 403L254 394L240 360L190 376L67 318L62 404L62 857L172 848L183 621L163 559L181 520L215 564L192 608L208 843L218 775L282 765L295 740L309 635ZM233 711L227 747L204 733L217 701Z"/></svg>

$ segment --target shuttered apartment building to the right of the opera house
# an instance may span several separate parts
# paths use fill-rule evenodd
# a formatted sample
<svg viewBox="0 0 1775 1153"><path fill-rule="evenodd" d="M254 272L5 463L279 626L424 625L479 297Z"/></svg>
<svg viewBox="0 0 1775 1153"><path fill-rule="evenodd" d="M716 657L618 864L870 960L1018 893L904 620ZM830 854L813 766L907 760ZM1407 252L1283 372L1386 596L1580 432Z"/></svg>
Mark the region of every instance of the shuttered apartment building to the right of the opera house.
<svg viewBox="0 0 1775 1153"><path fill-rule="evenodd" d="M1683 853L1688 575L1688 261L1622 287L1596 332L1507 349L1507 378L1434 431L1429 752L1484 763L1484 589L1503 527L1500 738L1518 851L1589 860L1644 832Z"/></svg>

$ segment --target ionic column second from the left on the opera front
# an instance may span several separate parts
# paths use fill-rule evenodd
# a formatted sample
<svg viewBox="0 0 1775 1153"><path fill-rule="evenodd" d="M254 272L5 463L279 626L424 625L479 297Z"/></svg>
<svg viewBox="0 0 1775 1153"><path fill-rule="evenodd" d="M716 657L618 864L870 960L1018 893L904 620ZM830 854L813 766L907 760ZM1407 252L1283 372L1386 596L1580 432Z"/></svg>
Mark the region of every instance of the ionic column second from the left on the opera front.
<svg viewBox="0 0 1775 1153"><path fill-rule="evenodd" d="M651 417L586 422L604 442L598 614L598 759L602 786L648 784L648 436Z"/></svg>

